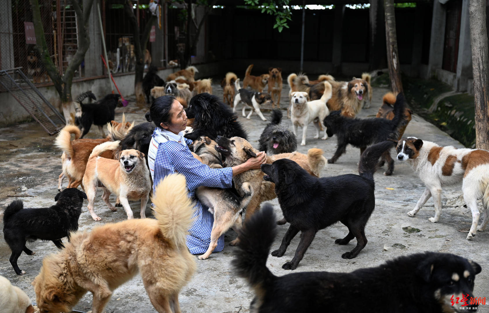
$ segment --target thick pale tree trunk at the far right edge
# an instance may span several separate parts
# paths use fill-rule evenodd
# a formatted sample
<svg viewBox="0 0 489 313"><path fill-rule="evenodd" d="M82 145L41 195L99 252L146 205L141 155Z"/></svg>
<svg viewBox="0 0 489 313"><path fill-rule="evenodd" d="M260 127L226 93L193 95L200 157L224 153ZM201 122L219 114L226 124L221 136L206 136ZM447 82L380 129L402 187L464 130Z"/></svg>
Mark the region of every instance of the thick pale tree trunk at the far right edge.
<svg viewBox="0 0 489 313"><path fill-rule="evenodd" d="M489 150L489 57L486 0L470 0L470 46L474 77L475 145Z"/></svg>

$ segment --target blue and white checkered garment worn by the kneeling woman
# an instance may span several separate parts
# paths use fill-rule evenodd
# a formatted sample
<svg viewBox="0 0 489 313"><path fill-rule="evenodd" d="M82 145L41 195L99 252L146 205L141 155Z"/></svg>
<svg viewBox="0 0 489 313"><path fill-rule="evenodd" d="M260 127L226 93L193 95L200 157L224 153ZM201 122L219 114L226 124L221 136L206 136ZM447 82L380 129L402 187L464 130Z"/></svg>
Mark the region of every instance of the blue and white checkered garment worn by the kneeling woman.
<svg viewBox="0 0 489 313"><path fill-rule="evenodd" d="M200 186L215 188L230 188L232 185L233 170L231 167L210 168L194 158L186 144L192 141L167 130L156 128L153 132L150 149L148 151L148 164L153 177L153 190L159 181L173 173L183 174L187 180L188 196L194 198L195 190ZM187 247L192 254L205 253L209 248L214 216L204 207L198 199L195 205L195 222L187 235ZM224 249L224 235L222 235L214 252Z"/></svg>

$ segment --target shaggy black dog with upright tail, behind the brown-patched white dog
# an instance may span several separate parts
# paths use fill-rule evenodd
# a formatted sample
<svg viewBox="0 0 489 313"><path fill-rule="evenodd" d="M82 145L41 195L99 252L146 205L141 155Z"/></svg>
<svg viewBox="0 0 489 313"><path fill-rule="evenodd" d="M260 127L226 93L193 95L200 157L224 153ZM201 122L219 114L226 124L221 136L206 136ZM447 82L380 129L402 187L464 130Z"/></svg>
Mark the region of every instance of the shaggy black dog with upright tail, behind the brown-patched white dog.
<svg viewBox="0 0 489 313"><path fill-rule="evenodd" d="M394 104L394 118L391 120L381 118L351 119L340 114L340 111L333 111L324 119L327 127L328 137L336 134L338 147L328 163L334 163L345 153L348 144L360 148L360 155L367 146L381 141L398 138L397 128L404 117L404 96L400 93ZM387 160L387 170L384 175L391 175L394 170L394 160L391 158L390 151L386 151L382 158Z"/></svg>

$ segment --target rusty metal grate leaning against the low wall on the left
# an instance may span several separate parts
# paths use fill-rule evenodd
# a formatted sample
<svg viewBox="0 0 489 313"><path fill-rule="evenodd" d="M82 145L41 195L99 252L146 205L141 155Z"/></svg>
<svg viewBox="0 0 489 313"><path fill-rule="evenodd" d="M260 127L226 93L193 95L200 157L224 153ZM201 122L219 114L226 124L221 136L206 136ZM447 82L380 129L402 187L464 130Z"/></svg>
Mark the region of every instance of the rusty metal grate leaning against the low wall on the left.
<svg viewBox="0 0 489 313"><path fill-rule="evenodd" d="M0 91L10 92L49 135L56 134L65 126L65 118L44 98L21 68L0 70Z"/></svg>

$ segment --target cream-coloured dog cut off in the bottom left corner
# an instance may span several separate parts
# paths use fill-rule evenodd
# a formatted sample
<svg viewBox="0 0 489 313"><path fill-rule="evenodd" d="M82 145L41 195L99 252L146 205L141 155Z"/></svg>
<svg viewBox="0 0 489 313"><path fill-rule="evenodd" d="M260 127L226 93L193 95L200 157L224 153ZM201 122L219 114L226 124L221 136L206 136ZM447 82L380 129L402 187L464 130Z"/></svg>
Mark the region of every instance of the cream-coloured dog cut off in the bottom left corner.
<svg viewBox="0 0 489 313"><path fill-rule="evenodd" d="M0 276L0 312L33 313L31 301L19 287L12 286L7 278Z"/></svg>

